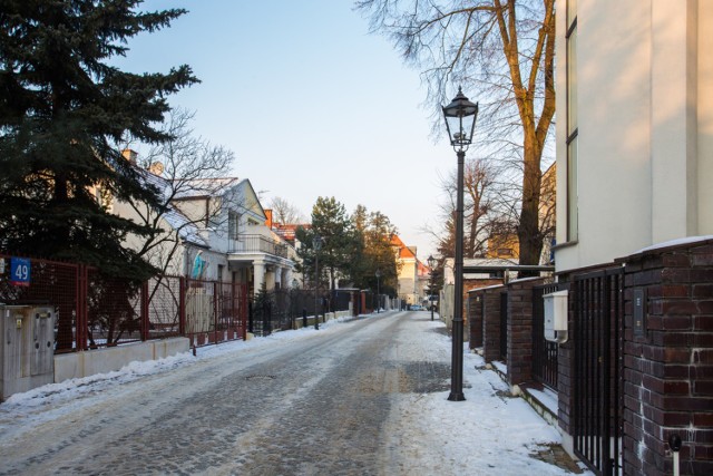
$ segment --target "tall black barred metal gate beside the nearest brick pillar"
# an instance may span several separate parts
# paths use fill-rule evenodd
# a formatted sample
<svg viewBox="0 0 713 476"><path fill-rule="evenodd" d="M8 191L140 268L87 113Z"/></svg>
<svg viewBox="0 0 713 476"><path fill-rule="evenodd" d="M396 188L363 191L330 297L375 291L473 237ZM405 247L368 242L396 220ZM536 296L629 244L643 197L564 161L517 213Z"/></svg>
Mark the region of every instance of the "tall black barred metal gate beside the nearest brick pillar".
<svg viewBox="0 0 713 476"><path fill-rule="evenodd" d="M598 475L622 474L624 269L575 276L573 435Z"/></svg>

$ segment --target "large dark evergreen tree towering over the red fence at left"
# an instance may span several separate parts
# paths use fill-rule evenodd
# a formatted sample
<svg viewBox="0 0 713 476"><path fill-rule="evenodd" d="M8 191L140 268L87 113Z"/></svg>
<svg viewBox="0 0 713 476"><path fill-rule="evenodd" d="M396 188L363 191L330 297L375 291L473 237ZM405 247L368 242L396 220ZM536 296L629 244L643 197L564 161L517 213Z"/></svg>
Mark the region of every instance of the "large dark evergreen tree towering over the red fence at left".
<svg viewBox="0 0 713 476"><path fill-rule="evenodd" d="M140 12L140 3L0 0L0 250L134 279L154 271L121 244L149 227L97 200L159 206L118 145L167 140L158 128L166 96L197 81L188 66L135 75L109 65L129 38L185 13Z"/></svg>

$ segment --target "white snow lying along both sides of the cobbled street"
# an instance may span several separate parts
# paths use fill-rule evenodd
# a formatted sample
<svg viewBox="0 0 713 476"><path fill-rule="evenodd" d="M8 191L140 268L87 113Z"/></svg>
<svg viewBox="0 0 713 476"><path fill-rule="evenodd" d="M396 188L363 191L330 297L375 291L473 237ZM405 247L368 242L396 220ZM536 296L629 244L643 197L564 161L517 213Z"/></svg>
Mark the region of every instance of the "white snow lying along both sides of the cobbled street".
<svg viewBox="0 0 713 476"><path fill-rule="evenodd" d="M237 357L256 348L314 338L316 333L325 336L338 332L346 320L330 321L321 324L320 330L305 328L282 331L248 341L199 348L196 357L185 352L156 361L134 362L119 371L17 394L0 405L0 434L12 433L13 422L17 421L41 425L62 412L69 412L72 402L87 394L92 398L102 398L106 394L108 398L111 394L109 390L124 382L176 371L228 353ZM398 359L422 361L428 358L449 363L452 344L442 332L445 324L427 319L413 319L411 323L413 326L402 331L394 342L393 352ZM467 348L467 344L463 347ZM463 352L463 394L465 401L448 401L449 391L392 396L387 427L394 429L390 433L394 435L390 447L399 455L406 455L400 474L569 474L533 458L547 445L561 443L558 430L543 420L522 398L510 396L508 386L495 371L486 368L482 357L467 350ZM553 396L539 395L538 398L547 400Z"/></svg>

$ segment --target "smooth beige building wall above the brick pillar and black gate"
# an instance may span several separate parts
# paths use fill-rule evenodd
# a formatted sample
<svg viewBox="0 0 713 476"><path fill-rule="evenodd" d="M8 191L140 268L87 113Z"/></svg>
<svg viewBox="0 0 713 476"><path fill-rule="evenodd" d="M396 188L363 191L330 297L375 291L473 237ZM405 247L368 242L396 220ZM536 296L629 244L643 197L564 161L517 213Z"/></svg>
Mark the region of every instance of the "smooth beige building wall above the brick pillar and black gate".
<svg viewBox="0 0 713 476"><path fill-rule="evenodd" d="M557 2L557 269L713 234L713 2L578 0L567 242L566 1Z"/></svg>

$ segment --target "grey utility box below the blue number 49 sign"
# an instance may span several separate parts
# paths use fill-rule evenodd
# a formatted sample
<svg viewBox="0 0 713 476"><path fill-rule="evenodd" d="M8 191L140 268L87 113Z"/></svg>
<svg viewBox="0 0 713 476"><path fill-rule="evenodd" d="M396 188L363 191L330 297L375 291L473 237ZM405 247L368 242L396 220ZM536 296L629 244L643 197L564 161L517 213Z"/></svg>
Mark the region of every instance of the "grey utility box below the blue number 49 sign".
<svg viewBox="0 0 713 476"><path fill-rule="evenodd" d="M0 305L0 400L55 381L51 307Z"/></svg>

